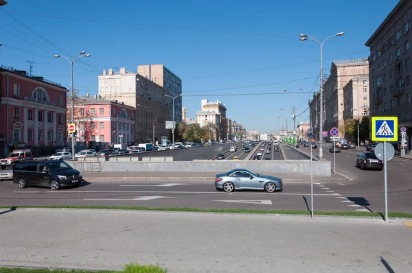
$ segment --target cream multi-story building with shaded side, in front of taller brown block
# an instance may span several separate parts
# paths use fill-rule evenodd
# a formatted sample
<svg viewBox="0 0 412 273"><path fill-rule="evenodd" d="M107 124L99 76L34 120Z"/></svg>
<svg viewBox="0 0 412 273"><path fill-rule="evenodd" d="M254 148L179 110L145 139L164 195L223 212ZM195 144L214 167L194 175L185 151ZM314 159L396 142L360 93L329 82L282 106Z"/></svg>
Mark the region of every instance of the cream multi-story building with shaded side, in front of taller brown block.
<svg viewBox="0 0 412 273"><path fill-rule="evenodd" d="M155 141L170 135L169 130L165 129L165 121L170 118L172 99L166 97L170 92L159 84L138 73L128 72L126 68L121 68L119 72L105 69L99 75L99 95L136 108L135 142L152 143L153 131Z"/></svg>

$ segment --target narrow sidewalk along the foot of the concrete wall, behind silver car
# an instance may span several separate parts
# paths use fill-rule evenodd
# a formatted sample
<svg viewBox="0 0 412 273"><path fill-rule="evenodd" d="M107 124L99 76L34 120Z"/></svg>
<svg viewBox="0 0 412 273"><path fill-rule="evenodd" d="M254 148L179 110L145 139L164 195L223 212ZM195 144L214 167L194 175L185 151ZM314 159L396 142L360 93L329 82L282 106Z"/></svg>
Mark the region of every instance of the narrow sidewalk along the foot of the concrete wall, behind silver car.
<svg viewBox="0 0 412 273"><path fill-rule="evenodd" d="M268 176L282 178L284 182L310 182L310 175L286 174L286 173L264 173ZM214 180L216 173L191 172L191 171L102 171L83 172L85 180ZM313 176L314 182L343 182L349 179L339 174L332 176Z"/></svg>

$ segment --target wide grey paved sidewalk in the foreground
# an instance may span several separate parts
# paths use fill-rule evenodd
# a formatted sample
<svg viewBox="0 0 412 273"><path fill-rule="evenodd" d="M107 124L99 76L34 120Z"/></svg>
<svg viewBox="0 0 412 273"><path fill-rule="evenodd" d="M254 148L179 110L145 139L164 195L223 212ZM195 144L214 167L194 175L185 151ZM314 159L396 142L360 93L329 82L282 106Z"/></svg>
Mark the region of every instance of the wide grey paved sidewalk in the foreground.
<svg viewBox="0 0 412 273"><path fill-rule="evenodd" d="M411 272L400 220L147 211L0 212L0 265L168 272Z"/></svg>

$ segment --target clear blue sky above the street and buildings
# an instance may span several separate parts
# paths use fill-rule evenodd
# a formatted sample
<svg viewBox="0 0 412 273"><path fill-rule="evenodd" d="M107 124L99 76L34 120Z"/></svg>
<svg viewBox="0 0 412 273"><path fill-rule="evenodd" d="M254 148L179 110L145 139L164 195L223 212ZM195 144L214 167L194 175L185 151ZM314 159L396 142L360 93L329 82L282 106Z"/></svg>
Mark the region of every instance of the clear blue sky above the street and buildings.
<svg viewBox="0 0 412 273"><path fill-rule="evenodd" d="M328 74L332 60L369 55L366 40L398 0L8 2L0 8L0 64L28 71L30 60L33 74L69 88L69 62L53 56L85 50L91 58L76 62L74 86L91 95L117 62L128 71L165 64L182 79L188 117L201 99L219 99L247 130L276 132L292 115L292 95L282 90L299 92L299 122L308 121L308 99L319 89L319 45L299 34L345 32L325 43Z"/></svg>

